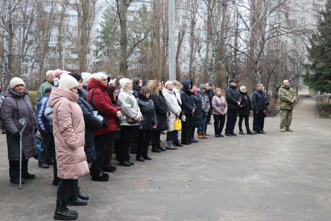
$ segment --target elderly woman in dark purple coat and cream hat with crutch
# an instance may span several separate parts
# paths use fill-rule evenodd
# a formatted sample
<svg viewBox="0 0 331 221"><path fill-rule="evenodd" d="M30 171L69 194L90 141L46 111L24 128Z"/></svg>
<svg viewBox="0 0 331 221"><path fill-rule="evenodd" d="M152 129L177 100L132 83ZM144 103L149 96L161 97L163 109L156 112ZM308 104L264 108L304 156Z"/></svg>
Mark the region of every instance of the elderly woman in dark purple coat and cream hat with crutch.
<svg viewBox="0 0 331 221"><path fill-rule="evenodd" d="M30 98L27 95L25 83L20 78L13 78L7 88L5 99L2 102L1 118L7 130L7 147L9 159L10 182L20 184L20 147L19 138L22 125L19 119L26 120L26 128L22 137L22 178L33 179L34 174L27 172L29 158L38 154L35 133L38 123L34 115ZM22 180L22 184L25 181Z"/></svg>

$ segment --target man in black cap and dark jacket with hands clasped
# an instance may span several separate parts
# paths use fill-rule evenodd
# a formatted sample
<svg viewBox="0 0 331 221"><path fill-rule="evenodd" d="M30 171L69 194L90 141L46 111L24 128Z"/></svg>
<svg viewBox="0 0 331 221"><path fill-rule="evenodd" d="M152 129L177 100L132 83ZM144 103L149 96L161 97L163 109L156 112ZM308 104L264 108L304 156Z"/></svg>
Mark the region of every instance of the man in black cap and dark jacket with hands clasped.
<svg viewBox="0 0 331 221"><path fill-rule="evenodd" d="M228 105L225 135L237 136L233 131L237 122L237 114L241 104L241 96L237 88L237 81L235 79L231 79L229 83L230 84L225 90L226 103Z"/></svg>

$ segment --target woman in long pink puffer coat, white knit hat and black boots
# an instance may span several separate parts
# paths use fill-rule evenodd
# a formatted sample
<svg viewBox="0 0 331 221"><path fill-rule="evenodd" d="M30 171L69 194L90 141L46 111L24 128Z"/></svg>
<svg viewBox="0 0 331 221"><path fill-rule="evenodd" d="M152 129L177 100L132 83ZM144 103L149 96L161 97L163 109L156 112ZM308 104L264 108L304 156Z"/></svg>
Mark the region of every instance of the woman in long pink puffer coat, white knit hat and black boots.
<svg viewBox="0 0 331 221"><path fill-rule="evenodd" d="M77 211L67 205L86 205L77 194L78 178L89 174L84 152L85 124L77 94L78 82L70 75L62 75L59 87L53 87L49 106L53 109L53 134L60 183L57 190L54 219L76 219Z"/></svg>

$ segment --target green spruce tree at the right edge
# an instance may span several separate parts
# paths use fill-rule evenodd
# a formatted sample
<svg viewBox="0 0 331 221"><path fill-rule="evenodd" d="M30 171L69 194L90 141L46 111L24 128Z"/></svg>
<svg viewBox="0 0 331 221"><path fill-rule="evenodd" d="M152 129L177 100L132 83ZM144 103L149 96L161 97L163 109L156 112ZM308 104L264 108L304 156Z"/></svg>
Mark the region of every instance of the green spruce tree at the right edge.
<svg viewBox="0 0 331 221"><path fill-rule="evenodd" d="M315 90L331 93L331 1L327 1L325 11L319 12L317 32L312 35L304 83Z"/></svg>

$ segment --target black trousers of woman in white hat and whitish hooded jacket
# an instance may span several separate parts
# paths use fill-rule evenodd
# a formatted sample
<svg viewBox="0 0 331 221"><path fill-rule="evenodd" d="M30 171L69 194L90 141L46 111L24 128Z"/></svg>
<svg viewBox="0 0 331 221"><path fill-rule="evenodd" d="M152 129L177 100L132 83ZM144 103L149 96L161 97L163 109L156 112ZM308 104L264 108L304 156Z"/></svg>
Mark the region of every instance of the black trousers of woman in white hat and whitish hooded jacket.
<svg viewBox="0 0 331 221"><path fill-rule="evenodd" d="M121 138L119 139L119 149L117 159L119 161L128 161L130 159L130 142L132 130L135 126L121 126Z"/></svg>

